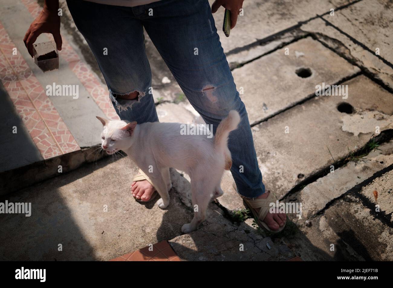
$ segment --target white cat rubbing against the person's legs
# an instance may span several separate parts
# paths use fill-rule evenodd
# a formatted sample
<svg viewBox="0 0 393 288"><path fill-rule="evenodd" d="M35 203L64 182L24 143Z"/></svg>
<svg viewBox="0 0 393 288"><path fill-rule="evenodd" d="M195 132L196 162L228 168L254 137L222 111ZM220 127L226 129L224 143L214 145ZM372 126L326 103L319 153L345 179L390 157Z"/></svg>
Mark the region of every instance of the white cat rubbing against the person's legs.
<svg viewBox="0 0 393 288"><path fill-rule="evenodd" d="M97 118L103 124L102 148L108 154L123 150L149 175L161 196L158 200L160 208L169 205L168 191L172 187L169 167L189 174L193 206L198 208L191 223L182 226L182 232L196 230L206 216L209 201L223 194L221 177L224 169L229 170L232 165L228 134L237 128L239 113L231 110L228 117L220 122L214 138L182 135L180 123L137 124Z"/></svg>

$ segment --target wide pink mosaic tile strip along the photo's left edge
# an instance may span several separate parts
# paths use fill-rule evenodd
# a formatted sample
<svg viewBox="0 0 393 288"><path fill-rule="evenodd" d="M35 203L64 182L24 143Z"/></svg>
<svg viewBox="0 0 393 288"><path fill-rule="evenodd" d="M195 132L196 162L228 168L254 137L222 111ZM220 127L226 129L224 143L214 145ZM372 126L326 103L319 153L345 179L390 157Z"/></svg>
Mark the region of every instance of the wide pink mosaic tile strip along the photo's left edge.
<svg viewBox="0 0 393 288"><path fill-rule="evenodd" d="M79 150L44 88L0 22L0 80L44 159Z"/></svg>

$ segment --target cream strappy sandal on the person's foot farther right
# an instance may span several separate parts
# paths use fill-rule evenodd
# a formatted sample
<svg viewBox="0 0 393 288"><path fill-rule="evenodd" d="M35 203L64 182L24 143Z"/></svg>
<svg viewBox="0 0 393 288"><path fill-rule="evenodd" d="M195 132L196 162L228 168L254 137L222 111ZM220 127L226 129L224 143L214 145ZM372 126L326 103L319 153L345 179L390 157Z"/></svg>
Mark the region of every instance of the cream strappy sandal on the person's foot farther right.
<svg viewBox="0 0 393 288"><path fill-rule="evenodd" d="M242 198L244 204L248 206L248 208L250 208L252 214L254 215L254 218L258 219L259 227L264 228L269 233L276 234L284 230L286 222L284 223L284 226L278 228L278 230L271 230L268 227L268 225L263 222L263 219L265 219L266 215L269 213L270 203L273 202L275 207L275 203L277 200L277 197L273 192L270 192L269 190L267 191L269 192L269 195L266 199L262 199L262 198L247 199L244 196L242 196ZM255 210L257 208L260 208L259 213L257 213L257 210Z"/></svg>

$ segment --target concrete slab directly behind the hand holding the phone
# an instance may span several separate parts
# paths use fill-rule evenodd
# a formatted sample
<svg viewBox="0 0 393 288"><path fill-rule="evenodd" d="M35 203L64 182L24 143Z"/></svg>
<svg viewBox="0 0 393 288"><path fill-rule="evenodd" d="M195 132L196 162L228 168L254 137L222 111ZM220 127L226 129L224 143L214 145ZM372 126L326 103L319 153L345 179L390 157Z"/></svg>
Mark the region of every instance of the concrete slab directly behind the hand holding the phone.
<svg viewBox="0 0 393 288"><path fill-rule="evenodd" d="M210 5L214 0L209 0ZM351 0L323 0L323 1L245 1L243 3L244 16L239 16L237 24L227 38L222 32L224 8L213 14L220 41L225 52L258 42L267 36L278 33L298 22L307 21L316 14L329 12Z"/></svg>

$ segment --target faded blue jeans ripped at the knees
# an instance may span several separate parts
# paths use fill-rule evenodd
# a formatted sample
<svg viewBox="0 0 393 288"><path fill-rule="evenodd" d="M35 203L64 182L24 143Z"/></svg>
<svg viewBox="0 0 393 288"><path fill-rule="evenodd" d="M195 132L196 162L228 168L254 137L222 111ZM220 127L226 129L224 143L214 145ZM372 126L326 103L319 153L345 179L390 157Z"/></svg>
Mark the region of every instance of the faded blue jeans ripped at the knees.
<svg viewBox="0 0 393 288"><path fill-rule="evenodd" d="M94 53L122 120L158 121L149 94L151 70L145 53L145 28L191 105L213 125L213 133L230 110L239 112L241 123L228 140L231 172L241 195L252 198L264 193L246 107L233 82L208 0L162 0L136 7L76 0L67 0L67 4ZM139 92L136 100L114 97L135 91Z"/></svg>

